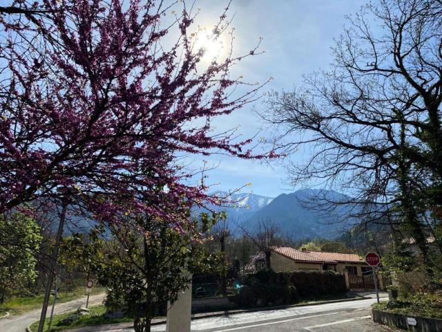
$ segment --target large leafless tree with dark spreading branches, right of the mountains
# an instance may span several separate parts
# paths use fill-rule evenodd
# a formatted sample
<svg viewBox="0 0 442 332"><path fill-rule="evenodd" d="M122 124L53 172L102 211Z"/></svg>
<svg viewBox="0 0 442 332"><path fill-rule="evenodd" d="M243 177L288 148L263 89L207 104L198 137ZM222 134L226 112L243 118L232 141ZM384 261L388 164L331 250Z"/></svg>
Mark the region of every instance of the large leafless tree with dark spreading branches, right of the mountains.
<svg viewBox="0 0 442 332"><path fill-rule="evenodd" d="M442 250L442 1L382 0L348 21L329 71L271 93L260 115L281 153L310 148L293 183L352 193L340 203L406 230L431 265L429 230Z"/></svg>

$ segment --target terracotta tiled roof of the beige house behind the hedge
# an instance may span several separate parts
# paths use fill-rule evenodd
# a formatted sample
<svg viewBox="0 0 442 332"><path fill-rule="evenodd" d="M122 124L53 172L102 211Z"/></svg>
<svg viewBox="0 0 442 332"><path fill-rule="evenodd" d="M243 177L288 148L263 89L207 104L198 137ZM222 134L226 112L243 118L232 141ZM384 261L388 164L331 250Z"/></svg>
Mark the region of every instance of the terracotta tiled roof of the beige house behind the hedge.
<svg viewBox="0 0 442 332"><path fill-rule="evenodd" d="M364 263L362 257L356 254L343 254L341 252L325 252L325 251L301 251L290 247L272 247L274 252L285 256L294 261L309 261L318 263Z"/></svg>

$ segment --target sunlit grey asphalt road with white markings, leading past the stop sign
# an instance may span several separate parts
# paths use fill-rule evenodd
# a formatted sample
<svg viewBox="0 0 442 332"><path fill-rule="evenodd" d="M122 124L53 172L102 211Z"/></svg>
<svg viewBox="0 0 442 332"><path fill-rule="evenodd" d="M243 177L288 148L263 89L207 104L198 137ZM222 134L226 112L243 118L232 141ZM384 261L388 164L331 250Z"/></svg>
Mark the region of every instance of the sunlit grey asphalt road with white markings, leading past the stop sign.
<svg viewBox="0 0 442 332"><path fill-rule="evenodd" d="M392 331L372 322L371 304L376 299L362 299L315 306L298 306L271 311L238 313L192 321L191 331L201 332L382 332ZM101 332L131 332L133 329L97 329ZM88 330L94 331L94 330ZM153 332L166 331L164 324Z"/></svg>

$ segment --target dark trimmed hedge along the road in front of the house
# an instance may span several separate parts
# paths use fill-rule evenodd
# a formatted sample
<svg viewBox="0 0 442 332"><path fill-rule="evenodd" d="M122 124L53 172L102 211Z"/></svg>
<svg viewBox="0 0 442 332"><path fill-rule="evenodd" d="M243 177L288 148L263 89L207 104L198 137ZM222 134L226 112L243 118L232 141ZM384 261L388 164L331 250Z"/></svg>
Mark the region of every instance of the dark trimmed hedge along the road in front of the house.
<svg viewBox="0 0 442 332"><path fill-rule="evenodd" d="M282 273L261 270L244 275L237 296L240 306L294 304L299 299L339 295L347 291L343 275L333 271Z"/></svg>

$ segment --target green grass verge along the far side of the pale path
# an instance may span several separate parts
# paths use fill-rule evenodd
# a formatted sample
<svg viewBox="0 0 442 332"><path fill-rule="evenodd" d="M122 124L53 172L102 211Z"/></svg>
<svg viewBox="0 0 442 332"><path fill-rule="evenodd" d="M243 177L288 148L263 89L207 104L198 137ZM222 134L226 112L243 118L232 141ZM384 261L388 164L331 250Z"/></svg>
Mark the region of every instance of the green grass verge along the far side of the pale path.
<svg viewBox="0 0 442 332"><path fill-rule="evenodd" d="M92 295L103 293L104 288L96 287L93 290ZM77 287L73 291L60 292L57 295L57 303L69 302L73 299L78 299L79 297L86 296L86 291L84 287ZM22 313L27 313L38 308L41 308L43 304L44 293L37 294L35 296L15 296L7 299L3 304L0 304L0 309L3 311L8 311L11 315L21 315ZM49 304L52 305L54 297L51 296L49 299Z"/></svg>

